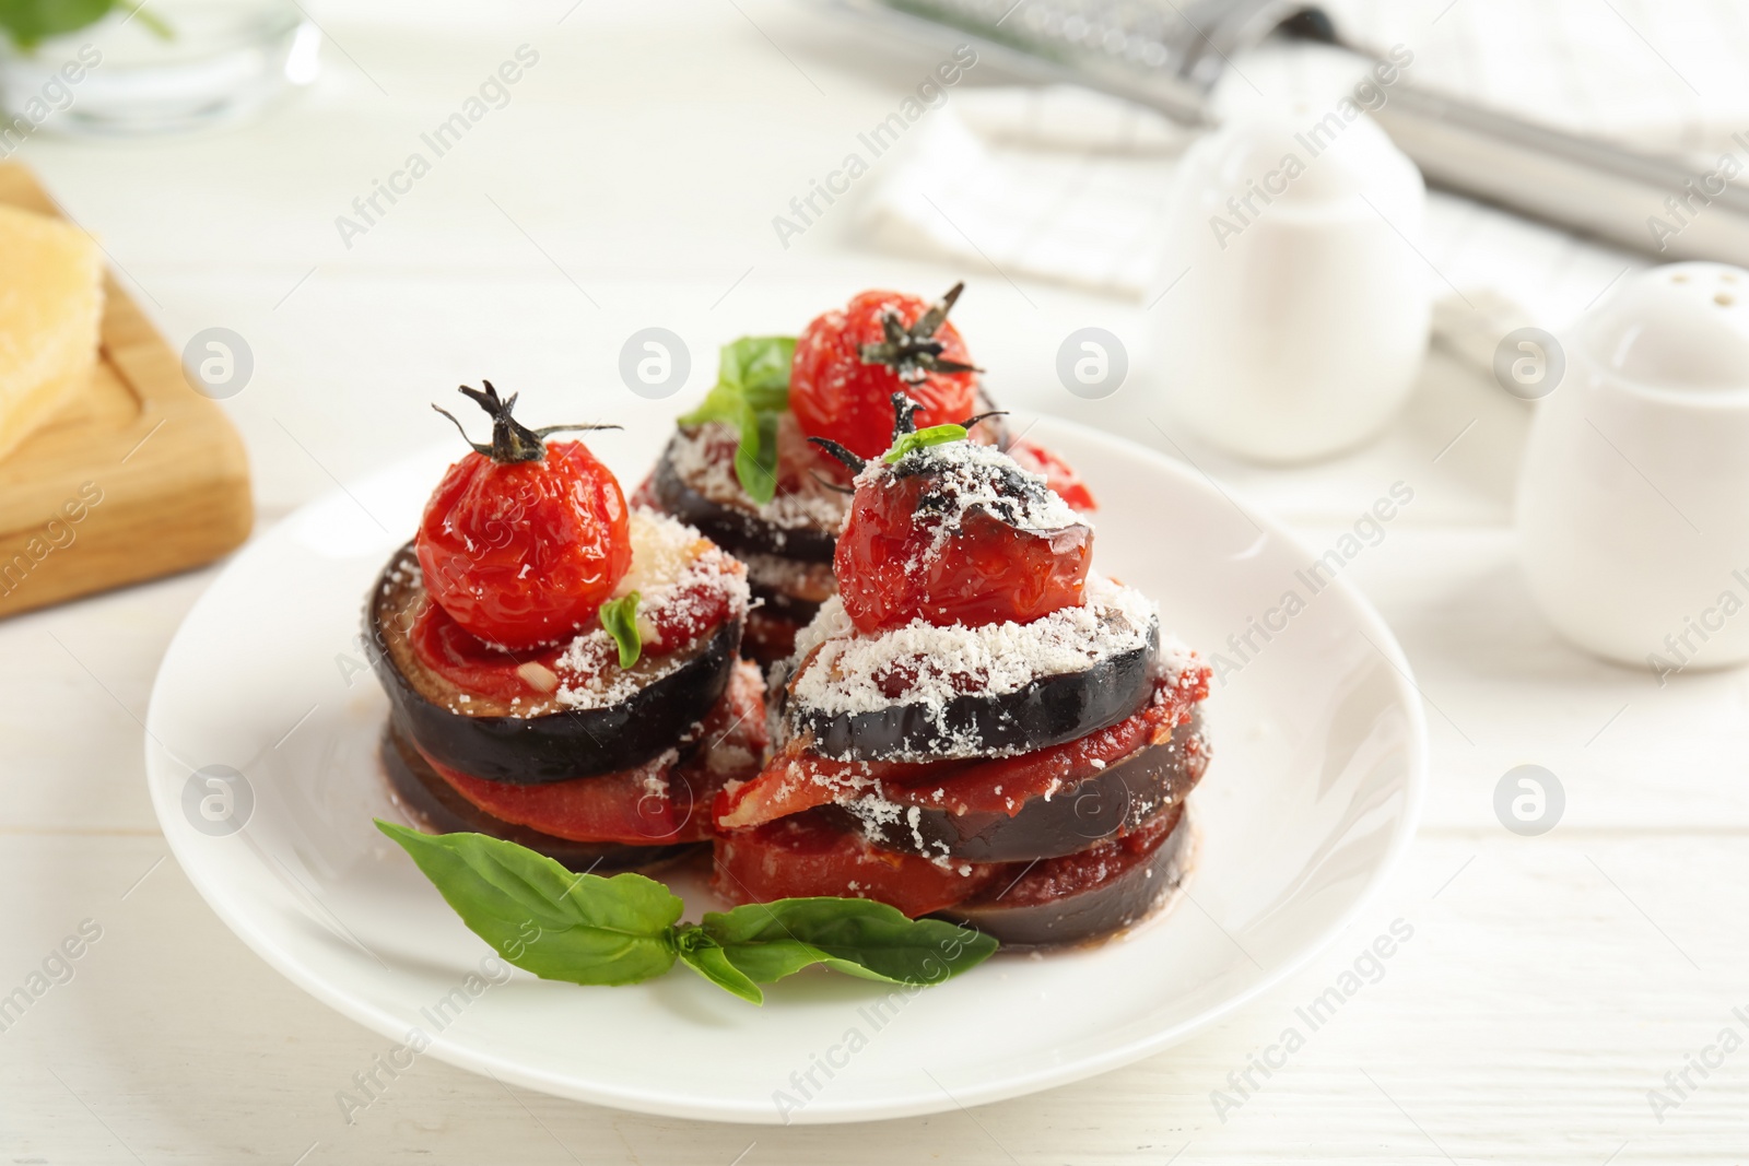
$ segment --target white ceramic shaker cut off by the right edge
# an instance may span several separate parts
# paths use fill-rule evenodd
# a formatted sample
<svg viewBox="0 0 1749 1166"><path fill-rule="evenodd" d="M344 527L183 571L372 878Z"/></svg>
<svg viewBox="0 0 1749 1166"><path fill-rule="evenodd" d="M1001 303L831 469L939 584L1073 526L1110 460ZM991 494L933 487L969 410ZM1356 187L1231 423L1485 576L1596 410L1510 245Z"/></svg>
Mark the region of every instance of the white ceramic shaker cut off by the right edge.
<svg viewBox="0 0 1749 1166"><path fill-rule="evenodd" d="M1660 678L1749 661L1749 271L1642 271L1562 343L1518 481L1532 594Z"/></svg>

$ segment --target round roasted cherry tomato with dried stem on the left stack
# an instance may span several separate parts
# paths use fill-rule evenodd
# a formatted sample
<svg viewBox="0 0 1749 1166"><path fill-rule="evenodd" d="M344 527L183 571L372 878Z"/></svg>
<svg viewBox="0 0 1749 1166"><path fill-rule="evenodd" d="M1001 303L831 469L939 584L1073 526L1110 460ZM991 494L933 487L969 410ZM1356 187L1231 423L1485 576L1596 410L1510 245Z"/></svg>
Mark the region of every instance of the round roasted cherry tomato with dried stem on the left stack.
<svg viewBox="0 0 1749 1166"><path fill-rule="evenodd" d="M514 393L500 400L490 381L484 393L462 392L491 414L491 444L469 442L474 453L425 503L416 544L425 589L490 645L554 643L595 619L631 566L624 495L582 442L546 442L598 427L530 430L511 418Z"/></svg>

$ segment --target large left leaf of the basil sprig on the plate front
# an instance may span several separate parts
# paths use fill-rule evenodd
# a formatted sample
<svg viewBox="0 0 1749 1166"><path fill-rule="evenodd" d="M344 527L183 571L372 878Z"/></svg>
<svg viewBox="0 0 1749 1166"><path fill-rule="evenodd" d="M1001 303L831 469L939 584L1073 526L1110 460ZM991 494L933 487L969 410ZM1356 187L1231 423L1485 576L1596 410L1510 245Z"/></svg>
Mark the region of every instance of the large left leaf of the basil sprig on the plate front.
<svg viewBox="0 0 1749 1166"><path fill-rule="evenodd" d="M574 874L484 834L422 834L376 820L470 932L542 979L637 984L673 967L682 904L642 874Z"/></svg>

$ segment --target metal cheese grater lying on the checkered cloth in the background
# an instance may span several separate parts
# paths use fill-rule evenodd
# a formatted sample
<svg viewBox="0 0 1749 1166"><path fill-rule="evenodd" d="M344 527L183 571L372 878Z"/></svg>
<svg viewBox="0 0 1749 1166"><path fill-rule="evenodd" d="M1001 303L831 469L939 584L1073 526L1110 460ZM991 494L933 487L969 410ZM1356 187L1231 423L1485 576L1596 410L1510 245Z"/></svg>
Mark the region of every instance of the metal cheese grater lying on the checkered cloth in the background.
<svg viewBox="0 0 1749 1166"><path fill-rule="evenodd" d="M930 42L979 52L1039 80L1069 80L1207 126L1230 58L1282 30L1343 44L1317 7L1286 0L834 0ZM1371 56L1371 54L1364 54ZM1651 215L1690 199L1700 178L1656 157L1536 126L1413 84L1392 86L1373 114L1429 182L1558 226L1674 259L1749 266L1749 191L1725 185L1681 234L1658 239ZM1662 250L1660 250L1662 246Z"/></svg>

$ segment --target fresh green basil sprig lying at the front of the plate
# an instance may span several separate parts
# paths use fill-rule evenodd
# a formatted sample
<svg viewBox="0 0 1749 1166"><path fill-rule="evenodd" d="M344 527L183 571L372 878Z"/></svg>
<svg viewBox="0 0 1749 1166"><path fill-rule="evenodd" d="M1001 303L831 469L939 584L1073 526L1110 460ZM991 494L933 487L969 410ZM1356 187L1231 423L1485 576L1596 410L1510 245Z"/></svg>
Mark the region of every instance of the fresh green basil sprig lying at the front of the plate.
<svg viewBox="0 0 1749 1166"><path fill-rule="evenodd" d="M637 984L679 960L752 1003L759 984L826 965L887 984L939 984L997 942L868 899L778 899L680 923L680 899L642 874L574 874L486 834L376 829L402 846L470 932L505 961L572 984Z"/></svg>

